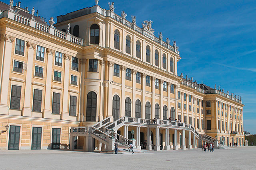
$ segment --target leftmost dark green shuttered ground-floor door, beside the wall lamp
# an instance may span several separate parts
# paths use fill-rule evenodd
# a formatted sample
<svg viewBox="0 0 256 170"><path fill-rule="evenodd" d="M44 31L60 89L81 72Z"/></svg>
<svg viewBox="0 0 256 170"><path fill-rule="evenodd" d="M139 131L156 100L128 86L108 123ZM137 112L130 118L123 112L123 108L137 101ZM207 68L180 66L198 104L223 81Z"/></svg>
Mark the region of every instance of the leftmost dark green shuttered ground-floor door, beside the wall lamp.
<svg viewBox="0 0 256 170"><path fill-rule="evenodd" d="M20 144L20 126L10 126L9 150L18 150Z"/></svg>

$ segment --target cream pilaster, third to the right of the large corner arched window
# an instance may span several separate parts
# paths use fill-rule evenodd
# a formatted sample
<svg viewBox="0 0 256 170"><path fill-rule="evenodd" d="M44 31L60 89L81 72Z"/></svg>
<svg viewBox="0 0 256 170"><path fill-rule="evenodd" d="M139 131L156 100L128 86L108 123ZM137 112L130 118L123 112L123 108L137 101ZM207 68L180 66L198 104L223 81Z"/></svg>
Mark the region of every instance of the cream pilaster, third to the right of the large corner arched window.
<svg viewBox="0 0 256 170"><path fill-rule="evenodd" d="M120 107L120 117L125 116L125 73L126 73L126 66L121 66L121 72L122 72L122 76L121 76L121 107Z"/></svg>

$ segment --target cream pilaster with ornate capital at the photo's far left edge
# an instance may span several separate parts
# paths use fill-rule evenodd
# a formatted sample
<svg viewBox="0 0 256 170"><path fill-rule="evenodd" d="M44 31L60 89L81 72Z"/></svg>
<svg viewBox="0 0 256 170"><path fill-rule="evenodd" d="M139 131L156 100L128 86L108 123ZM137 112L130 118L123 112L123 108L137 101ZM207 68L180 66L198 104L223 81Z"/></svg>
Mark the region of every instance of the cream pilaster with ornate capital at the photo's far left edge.
<svg viewBox="0 0 256 170"><path fill-rule="evenodd" d="M11 67L11 55L12 55L12 43L15 37L4 34L1 39L1 57L2 57L2 70L1 70L1 84L0 84L0 110L1 114L8 115L9 113L9 101L8 101L8 86L10 78Z"/></svg>

